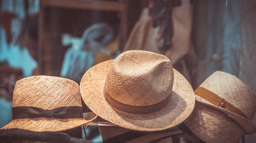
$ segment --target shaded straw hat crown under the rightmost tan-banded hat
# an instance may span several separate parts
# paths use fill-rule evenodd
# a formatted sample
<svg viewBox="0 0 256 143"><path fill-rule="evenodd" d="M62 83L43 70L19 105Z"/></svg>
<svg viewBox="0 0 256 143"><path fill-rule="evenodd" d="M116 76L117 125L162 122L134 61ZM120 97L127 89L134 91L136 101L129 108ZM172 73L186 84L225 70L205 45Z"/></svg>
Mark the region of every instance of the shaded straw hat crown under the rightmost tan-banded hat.
<svg viewBox="0 0 256 143"><path fill-rule="evenodd" d="M238 143L245 134L243 128L225 113L198 101L184 123L206 143Z"/></svg>

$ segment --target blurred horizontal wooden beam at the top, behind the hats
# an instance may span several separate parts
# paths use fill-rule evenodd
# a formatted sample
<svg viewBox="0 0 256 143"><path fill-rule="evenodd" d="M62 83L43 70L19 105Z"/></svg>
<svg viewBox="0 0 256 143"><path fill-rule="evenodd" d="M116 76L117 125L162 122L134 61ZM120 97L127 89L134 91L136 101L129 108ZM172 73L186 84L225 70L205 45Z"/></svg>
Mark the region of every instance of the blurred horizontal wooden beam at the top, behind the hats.
<svg viewBox="0 0 256 143"><path fill-rule="evenodd" d="M62 7L69 9L93 9L102 11L123 11L121 2L98 0L41 0L42 6Z"/></svg>

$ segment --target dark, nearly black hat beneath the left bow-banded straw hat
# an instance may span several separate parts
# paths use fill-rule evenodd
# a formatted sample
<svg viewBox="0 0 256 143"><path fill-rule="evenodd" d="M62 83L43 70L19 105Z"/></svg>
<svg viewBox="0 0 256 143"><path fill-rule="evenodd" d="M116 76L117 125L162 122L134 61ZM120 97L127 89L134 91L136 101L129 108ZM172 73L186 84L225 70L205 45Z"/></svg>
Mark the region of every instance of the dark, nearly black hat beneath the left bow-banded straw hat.
<svg viewBox="0 0 256 143"><path fill-rule="evenodd" d="M92 143L64 132L33 132L18 128L0 130L1 143Z"/></svg>

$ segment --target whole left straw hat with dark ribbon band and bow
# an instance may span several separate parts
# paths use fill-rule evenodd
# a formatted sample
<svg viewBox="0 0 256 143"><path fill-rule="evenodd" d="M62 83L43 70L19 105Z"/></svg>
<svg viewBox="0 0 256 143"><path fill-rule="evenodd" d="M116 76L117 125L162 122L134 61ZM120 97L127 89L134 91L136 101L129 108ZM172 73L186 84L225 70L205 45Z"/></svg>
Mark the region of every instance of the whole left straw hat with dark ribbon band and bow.
<svg viewBox="0 0 256 143"><path fill-rule="evenodd" d="M34 132L63 131L94 120L83 119L79 85L55 76L31 76L16 82L13 90L13 120L2 129Z"/></svg>

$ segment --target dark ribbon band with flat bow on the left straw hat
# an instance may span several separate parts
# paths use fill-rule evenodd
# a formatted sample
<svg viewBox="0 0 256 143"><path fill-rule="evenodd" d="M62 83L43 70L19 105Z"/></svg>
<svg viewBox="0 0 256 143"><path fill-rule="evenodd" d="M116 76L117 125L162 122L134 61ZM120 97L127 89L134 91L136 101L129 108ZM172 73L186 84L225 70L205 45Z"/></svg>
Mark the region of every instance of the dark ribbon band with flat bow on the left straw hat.
<svg viewBox="0 0 256 143"><path fill-rule="evenodd" d="M68 118L83 118L83 108L80 106L70 107L58 107L53 110L44 110L37 107L13 107L12 108L13 119L24 119L24 118L57 118L57 119L68 119Z"/></svg>

